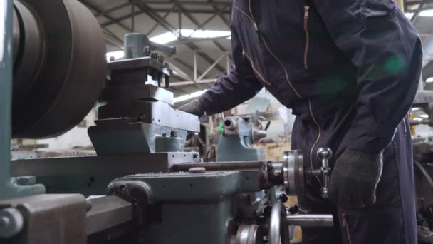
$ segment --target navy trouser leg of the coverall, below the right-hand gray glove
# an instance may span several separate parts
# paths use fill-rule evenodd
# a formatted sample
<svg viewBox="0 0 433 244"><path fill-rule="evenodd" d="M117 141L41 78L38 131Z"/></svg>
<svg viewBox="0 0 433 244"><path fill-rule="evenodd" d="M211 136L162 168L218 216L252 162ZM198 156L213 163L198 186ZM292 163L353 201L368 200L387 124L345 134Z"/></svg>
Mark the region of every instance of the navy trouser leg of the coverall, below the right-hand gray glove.
<svg viewBox="0 0 433 244"><path fill-rule="evenodd" d="M400 124L395 138L384 151L377 202L361 210L336 208L317 195L320 184L308 183L308 195L300 207L311 213L333 213L334 228L304 228L303 243L416 244L414 176L410 133Z"/></svg>

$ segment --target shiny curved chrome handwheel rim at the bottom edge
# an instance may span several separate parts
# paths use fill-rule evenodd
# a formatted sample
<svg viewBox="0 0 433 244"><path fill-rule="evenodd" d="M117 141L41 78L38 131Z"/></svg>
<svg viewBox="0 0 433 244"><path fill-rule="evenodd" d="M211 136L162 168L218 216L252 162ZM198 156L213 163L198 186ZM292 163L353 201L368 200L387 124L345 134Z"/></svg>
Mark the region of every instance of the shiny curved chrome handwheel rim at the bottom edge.
<svg viewBox="0 0 433 244"><path fill-rule="evenodd" d="M269 220L269 244L289 243L288 225L286 223L283 203L279 202L273 205L271 210L271 219Z"/></svg>

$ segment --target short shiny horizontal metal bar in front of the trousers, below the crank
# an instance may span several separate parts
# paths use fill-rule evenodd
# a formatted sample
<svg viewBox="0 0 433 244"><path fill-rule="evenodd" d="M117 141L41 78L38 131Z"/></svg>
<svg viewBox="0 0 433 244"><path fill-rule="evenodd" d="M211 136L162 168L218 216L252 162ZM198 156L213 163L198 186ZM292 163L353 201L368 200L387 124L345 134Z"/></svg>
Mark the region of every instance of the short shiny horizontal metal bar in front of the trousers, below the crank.
<svg viewBox="0 0 433 244"><path fill-rule="evenodd" d="M333 227L334 218L330 214L297 214L286 217L288 225L308 227Z"/></svg>

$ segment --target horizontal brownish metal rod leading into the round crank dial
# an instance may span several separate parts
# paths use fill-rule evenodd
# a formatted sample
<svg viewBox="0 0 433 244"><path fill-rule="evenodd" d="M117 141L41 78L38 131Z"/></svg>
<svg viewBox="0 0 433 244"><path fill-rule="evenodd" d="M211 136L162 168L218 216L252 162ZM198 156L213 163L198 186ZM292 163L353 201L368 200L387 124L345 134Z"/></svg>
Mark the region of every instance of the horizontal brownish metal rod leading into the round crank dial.
<svg viewBox="0 0 433 244"><path fill-rule="evenodd" d="M175 164L173 171L188 171L189 168L202 167L207 171L229 171L241 169L264 169L266 161L233 161L233 162L213 162L213 163L181 163Z"/></svg>

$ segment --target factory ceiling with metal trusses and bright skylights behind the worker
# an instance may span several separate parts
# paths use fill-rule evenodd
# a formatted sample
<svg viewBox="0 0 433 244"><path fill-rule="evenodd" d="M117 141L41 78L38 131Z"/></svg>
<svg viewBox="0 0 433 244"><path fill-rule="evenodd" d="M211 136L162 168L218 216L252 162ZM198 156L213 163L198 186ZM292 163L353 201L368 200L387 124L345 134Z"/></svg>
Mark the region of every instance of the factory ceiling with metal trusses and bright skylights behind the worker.
<svg viewBox="0 0 433 244"><path fill-rule="evenodd" d="M166 57L175 73L171 88L175 97L197 94L209 88L216 77L226 73L231 63L229 22L232 1L79 1L97 16L108 51L120 51L123 36L130 32L147 34L152 41L177 46L177 54ZM424 64L427 64L433 61L433 10L429 10L433 9L433 1L403 2L407 17L422 37ZM433 65L427 67L433 68ZM427 67L424 76L433 73L429 70L432 68ZM424 77L424 81L427 78Z"/></svg>

